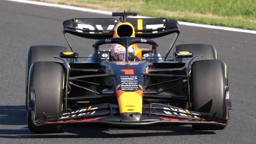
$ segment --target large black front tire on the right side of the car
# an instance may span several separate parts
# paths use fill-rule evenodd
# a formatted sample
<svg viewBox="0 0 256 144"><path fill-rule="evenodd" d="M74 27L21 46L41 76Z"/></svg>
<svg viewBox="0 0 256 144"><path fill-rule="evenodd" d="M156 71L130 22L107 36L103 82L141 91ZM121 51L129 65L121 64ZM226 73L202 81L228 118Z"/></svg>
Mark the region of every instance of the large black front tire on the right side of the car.
<svg viewBox="0 0 256 144"><path fill-rule="evenodd" d="M227 121L225 89L226 64L220 60L200 60L192 64L192 107L194 111L214 114ZM192 125L195 130L220 130L225 125Z"/></svg>

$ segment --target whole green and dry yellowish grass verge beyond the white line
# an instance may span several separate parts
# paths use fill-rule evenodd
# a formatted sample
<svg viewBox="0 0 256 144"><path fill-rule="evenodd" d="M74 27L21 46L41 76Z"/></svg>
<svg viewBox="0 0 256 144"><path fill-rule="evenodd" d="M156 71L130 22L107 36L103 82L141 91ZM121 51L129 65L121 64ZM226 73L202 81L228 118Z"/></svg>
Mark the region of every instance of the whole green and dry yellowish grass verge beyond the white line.
<svg viewBox="0 0 256 144"><path fill-rule="evenodd" d="M256 0L39 0L256 30Z"/></svg>

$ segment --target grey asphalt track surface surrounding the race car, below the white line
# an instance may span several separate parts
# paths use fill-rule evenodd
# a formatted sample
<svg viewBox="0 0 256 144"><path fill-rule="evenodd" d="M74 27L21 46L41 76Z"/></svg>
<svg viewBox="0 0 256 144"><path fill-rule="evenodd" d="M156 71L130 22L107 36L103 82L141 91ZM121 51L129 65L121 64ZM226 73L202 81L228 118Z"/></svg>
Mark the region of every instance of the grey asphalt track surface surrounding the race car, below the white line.
<svg viewBox="0 0 256 144"><path fill-rule="evenodd" d="M25 110L26 52L32 45L68 47L61 31L71 18L108 18L76 10L0 1L0 143L255 143L256 141L256 35L180 26L177 44L214 45L218 59L227 64L233 110L224 130L193 131L190 125L135 128L64 126L63 133L35 134L28 130ZM80 56L88 56L96 40L68 35ZM169 39L156 39L165 53Z"/></svg>

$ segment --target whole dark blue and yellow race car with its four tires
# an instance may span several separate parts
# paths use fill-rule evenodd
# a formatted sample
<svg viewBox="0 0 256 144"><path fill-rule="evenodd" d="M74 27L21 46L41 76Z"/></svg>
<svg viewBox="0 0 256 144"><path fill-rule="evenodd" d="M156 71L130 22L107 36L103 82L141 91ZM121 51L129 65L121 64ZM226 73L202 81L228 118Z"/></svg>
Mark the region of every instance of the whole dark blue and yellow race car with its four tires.
<svg viewBox="0 0 256 144"><path fill-rule="evenodd" d="M195 130L224 129L229 122L226 64L212 45L176 45L177 21L127 18L70 19L70 33L98 40L89 57L62 46L31 46L27 51L26 108L32 132L56 133L62 125L144 126L191 124ZM152 40L175 34L165 56ZM102 49L104 44L109 49ZM111 46L112 45L112 46ZM149 46L149 49L140 47ZM118 47L115 47L118 46ZM114 48L114 49L112 49ZM122 59L121 59L122 57ZM87 58L85 61L79 61Z"/></svg>

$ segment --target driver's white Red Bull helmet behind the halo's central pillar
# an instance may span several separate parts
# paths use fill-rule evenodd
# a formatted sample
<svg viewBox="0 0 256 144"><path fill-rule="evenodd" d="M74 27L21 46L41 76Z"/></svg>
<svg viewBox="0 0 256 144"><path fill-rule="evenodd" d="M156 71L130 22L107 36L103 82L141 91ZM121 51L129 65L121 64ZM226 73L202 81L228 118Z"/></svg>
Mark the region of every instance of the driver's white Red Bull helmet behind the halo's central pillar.
<svg viewBox="0 0 256 144"><path fill-rule="evenodd" d="M134 54L135 54L135 51L134 51L133 45L130 45L128 47L128 55L131 56ZM112 61L125 61L125 57L126 57L125 47L123 47L120 44L112 44L110 56L112 58Z"/></svg>

